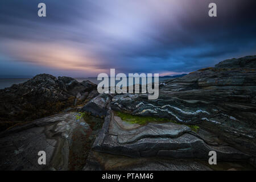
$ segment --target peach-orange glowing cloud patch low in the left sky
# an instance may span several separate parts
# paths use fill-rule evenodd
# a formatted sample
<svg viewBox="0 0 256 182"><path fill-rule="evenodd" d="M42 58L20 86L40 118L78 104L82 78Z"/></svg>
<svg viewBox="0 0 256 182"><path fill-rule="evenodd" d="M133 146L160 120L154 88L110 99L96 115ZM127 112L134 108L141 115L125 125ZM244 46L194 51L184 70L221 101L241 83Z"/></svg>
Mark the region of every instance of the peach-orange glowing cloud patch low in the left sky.
<svg viewBox="0 0 256 182"><path fill-rule="evenodd" d="M65 44L55 43L9 43L6 50L12 50L14 59L44 67L69 71L86 71L86 73L101 73L106 69L97 68L100 61L88 52ZM11 48L11 49L10 49Z"/></svg>

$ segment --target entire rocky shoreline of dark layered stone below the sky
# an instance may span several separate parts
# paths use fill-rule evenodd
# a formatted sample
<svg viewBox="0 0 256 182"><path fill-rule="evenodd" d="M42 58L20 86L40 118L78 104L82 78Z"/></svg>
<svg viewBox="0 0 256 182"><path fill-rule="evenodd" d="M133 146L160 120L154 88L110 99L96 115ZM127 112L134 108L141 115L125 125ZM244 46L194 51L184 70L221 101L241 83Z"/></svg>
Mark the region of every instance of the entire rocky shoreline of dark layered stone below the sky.
<svg viewBox="0 0 256 182"><path fill-rule="evenodd" d="M162 81L157 100L46 74L0 93L2 170L256 167L256 56Z"/></svg>

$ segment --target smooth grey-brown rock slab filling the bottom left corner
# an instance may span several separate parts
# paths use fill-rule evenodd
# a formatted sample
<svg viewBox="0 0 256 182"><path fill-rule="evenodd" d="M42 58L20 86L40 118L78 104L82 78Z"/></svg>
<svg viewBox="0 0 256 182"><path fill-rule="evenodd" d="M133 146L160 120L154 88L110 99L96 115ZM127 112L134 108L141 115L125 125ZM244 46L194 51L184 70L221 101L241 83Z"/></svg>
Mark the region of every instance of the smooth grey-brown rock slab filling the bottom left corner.
<svg viewBox="0 0 256 182"><path fill-rule="evenodd" d="M1 133L0 169L82 169L96 133L78 114L56 114ZM46 152L46 165L38 164L39 151Z"/></svg>

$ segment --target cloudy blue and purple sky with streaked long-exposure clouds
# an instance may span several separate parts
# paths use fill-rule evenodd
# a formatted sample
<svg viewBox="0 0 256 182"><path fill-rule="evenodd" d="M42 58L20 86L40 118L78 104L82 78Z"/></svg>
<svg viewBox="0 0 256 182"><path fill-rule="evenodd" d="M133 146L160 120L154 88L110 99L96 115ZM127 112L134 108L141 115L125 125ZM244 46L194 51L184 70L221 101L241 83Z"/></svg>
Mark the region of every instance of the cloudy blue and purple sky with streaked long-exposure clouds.
<svg viewBox="0 0 256 182"><path fill-rule="evenodd" d="M46 17L38 4L46 4ZM208 16L216 3L217 17ZM0 76L179 75L256 55L255 0L1 0Z"/></svg>

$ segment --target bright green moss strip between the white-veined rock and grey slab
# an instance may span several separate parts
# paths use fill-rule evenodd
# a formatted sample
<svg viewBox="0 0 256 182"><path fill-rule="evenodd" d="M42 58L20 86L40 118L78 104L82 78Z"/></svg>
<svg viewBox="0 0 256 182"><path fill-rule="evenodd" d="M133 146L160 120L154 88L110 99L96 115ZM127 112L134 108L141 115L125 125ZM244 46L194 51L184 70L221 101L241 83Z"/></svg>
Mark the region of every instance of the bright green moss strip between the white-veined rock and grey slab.
<svg viewBox="0 0 256 182"><path fill-rule="evenodd" d="M122 121L126 121L129 123L137 123L139 125L146 125L149 122L158 122L158 123L166 123L166 122L172 122L176 123L178 125L184 125L181 123L178 123L176 121L172 121L171 119L168 118L158 118L158 117L150 117L150 116L140 116L140 115L131 115L127 113L122 113L121 111L116 111L115 115L120 117ZM197 125L186 125L191 128L192 131L197 131L199 130L199 126Z"/></svg>

